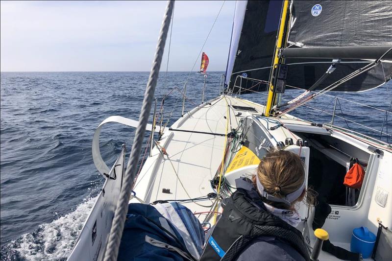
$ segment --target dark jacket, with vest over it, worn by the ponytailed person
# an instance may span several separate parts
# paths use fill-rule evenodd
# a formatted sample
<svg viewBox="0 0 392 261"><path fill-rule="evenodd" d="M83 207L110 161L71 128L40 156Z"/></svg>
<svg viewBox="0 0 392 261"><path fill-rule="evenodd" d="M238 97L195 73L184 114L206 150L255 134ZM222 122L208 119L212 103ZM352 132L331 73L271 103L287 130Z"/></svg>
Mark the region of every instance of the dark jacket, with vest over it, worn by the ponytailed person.
<svg viewBox="0 0 392 261"><path fill-rule="evenodd" d="M266 210L251 181L236 180L237 190L204 248L204 260L309 260L301 233Z"/></svg>

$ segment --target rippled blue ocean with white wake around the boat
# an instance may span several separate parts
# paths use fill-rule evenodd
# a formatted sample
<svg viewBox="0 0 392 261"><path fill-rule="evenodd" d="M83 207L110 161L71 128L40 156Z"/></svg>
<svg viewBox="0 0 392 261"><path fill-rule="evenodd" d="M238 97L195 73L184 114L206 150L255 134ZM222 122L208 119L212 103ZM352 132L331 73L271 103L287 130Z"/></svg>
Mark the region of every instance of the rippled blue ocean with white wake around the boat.
<svg viewBox="0 0 392 261"><path fill-rule="evenodd" d="M219 95L222 73L208 74L206 98ZM159 108L170 93L164 103L169 125L181 117L180 91L188 76L191 110L201 103L203 75L160 73L155 96ZM147 79L148 72L1 72L1 260L66 260L104 181L93 164L94 132L112 115L138 119ZM299 93L287 90L282 98ZM346 101L391 111L392 84L330 95L339 97L336 125L392 142L380 133L392 135L392 115ZM265 94L241 97L266 100ZM322 96L291 114L326 123L334 104L333 96ZM103 127L101 153L108 166L123 143L129 154L133 135L133 128L120 124Z"/></svg>

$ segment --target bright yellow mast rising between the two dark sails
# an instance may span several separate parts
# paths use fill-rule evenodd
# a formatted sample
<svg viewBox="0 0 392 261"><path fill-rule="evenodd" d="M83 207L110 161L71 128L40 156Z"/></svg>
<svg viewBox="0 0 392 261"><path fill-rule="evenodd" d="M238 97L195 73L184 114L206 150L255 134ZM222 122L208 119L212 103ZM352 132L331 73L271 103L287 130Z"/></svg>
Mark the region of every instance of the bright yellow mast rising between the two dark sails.
<svg viewBox="0 0 392 261"><path fill-rule="evenodd" d="M280 19L280 24L279 24L279 31L278 31L278 37L276 40L276 45L275 45L275 51L274 51L274 59L272 63L272 69L271 69L271 74L270 74L270 88L268 91L268 98L267 98L267 105L266 105L266 113L265 115L267 117L270 116L271 108L275 105L276 103L276 95L274 93L274 86L272 85L272 76L275 73L275 69L277 69L277 65L282 62L281 59L279 59L279 49L285 45L286 41L284 39L284 34L287 28L287 13L289 11L289 0L284 0L283 2L283 8L282 8L282 15Z"/></svg>

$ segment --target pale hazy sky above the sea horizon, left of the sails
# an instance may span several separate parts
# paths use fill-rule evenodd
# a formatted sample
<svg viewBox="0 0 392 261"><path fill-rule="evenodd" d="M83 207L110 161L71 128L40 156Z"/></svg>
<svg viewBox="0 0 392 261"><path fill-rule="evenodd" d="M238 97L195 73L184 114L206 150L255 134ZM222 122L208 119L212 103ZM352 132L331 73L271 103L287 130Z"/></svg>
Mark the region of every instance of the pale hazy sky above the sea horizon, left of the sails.
<svg viewBox="0 0 392 261"><path fill-rule="evenodd" d="M192 69L222 4L175 2L169 71ZM209 71L226 68L234 7L224 2L203 48ZM1 1L0 71L149 71L165 8L166 1ZM162 71L168 47L169 40Z"/></svg>

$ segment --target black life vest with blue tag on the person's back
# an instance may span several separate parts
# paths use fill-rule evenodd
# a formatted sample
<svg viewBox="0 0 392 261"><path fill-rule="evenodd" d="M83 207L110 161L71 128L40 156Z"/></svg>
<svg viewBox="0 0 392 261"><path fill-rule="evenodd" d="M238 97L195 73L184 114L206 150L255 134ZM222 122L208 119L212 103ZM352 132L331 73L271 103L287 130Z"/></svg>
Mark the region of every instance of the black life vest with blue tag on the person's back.
<svg viewBox="0 0 392 261"><path fill-rule="evenodd" d="M238 188L223 205L221 218L200 261L235 260L252 239L261 236L277 237L291 245L306 261L310 260L302 234L267 211L256 190Z"/></svg>

